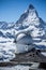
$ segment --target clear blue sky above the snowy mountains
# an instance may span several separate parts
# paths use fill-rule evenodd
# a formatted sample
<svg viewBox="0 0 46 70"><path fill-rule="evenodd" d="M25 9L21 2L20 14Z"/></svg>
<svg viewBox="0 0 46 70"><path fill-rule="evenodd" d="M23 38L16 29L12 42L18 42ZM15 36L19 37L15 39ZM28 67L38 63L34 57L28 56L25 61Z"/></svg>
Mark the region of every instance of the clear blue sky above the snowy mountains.
<svg viewBox="0 0 46 70"><path fill-rule="evenodd" d="M0 0L0 22L16 22L30 3L46 22L46 0Z"/></svg>

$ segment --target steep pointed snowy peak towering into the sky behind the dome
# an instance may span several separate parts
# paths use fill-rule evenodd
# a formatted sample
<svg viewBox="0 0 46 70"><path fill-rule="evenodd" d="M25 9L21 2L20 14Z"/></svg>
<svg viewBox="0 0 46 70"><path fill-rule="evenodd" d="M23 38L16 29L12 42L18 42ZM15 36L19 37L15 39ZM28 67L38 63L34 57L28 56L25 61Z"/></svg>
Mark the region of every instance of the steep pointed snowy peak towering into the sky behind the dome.
<svg viewBox="0 0 46 70"><path fill-rule="evenodd" d="M19 19L16 22L16 25L20 28L26 28L29 25L33 24L33 25L40 25L39 24L39 14L35 10L35 8L30 4L27 9L27 11L19 17ZM20 26L19 26L20 24Z"/></svg>

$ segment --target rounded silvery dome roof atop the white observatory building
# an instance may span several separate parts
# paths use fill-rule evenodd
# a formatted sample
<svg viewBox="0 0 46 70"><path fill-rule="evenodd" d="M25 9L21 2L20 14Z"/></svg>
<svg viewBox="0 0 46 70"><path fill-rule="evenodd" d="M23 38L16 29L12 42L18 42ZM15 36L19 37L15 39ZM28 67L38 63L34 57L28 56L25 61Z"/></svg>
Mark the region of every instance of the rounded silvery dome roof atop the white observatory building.
<svg viewBox="0 0 46 70"><path fill-rule="evenodd" d="M32 43L32 38L30 34L25 34L25 33L20 33L17 37L17 42L20 44L31 44Z"/></svg>

